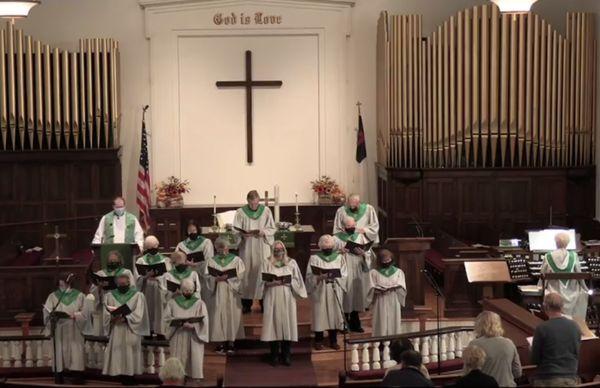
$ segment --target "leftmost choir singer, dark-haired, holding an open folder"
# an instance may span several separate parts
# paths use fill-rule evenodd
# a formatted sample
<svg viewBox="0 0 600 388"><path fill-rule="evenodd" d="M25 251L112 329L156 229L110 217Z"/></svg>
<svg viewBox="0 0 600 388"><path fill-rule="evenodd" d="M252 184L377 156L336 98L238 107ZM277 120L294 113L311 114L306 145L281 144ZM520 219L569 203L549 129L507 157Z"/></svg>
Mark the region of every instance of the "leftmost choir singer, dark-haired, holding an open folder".
<svg viewBox="0 0 600 388"><path fill-rule="evenodd" d="M83 332L91 307L79 290L71 288L72 280L73 274L61 274L58 289L44 303L45 332L54 336L56 344L53 368L58 384L62 384L65 371L79 374L85 368Z"/></svg>

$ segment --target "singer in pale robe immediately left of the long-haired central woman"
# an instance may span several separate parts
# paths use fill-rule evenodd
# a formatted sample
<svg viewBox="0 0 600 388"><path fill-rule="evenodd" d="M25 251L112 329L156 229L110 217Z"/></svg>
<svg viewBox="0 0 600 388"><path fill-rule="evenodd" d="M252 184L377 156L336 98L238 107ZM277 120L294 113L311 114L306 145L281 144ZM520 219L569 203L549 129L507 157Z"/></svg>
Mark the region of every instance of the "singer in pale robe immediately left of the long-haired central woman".
<svg viewBox="0 0 600 388"><path fill-rule="evenodd" d="M226 239L215 241L217 254L206 263L210 341L222 342L217 352L233 354L234 341L244 338L240 283L245 276L242 259L229 253Z"/></svg>

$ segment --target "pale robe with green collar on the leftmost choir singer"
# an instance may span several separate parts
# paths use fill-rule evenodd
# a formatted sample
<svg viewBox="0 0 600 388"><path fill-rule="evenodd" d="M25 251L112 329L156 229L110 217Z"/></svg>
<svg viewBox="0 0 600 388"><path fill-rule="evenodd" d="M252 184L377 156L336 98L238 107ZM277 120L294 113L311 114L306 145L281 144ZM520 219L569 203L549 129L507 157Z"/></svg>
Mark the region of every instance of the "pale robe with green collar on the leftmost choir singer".
<svg viewBox="0 0 600 388"><path fill-rule="evenodd" d="M59 319L56 324L55 366L57 372L63 370L82 371L85 368L83 333L89 323L93 306L91 301L86 300L78 290L70 289L62 299L60 299L61 294L60 290L51 293L44 303L44 324L46 326L44 332L46 335L52 334L50 311L62 311L75 316L75 319Z"/></svg>

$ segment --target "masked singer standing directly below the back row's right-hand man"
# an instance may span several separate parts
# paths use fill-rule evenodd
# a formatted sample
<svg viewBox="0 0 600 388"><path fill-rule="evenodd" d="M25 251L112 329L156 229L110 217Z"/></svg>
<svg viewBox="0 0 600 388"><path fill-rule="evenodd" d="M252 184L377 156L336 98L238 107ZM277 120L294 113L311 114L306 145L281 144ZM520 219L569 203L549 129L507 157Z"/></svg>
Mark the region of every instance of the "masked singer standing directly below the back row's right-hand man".
<svg viewBox="0 0 600 388"><path fill-rule="evenodd" d="M364 330L360 323L359 313L367 308L367 292L369 291L369 270L371 269L370 249L363 250L355 247L352 250L347 249L348 242L360 245L369 243L364 233L356 231L356 221L352 217L344 219L344 231L336 233L336 249L342 252L346 258L346 267L348 278L346 279L347 289L344 294L344 314L348 322L348 329L357 333L363 333Z"/></svg>

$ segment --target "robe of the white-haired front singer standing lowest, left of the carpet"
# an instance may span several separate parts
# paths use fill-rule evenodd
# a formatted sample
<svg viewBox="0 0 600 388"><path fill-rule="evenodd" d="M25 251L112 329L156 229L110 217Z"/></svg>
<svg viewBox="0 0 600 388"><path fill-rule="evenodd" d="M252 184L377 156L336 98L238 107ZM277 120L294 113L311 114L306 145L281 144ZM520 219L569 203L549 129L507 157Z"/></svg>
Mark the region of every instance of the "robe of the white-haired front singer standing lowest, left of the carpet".
<svg viewBox="0 0 600 388"><path fill-rule="evenodd" d="M190 299L179 295L167 303L164 317L171 357L181 361L187 377L204 378L204 344L208 342L209 327L206 305L197 295L193 295ZM193 329L169 326L173 319L195 317L204 317L204 319L202 322L194 323Z"/></svg>

